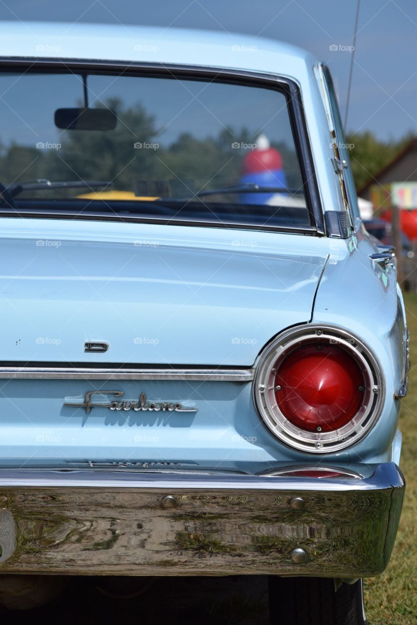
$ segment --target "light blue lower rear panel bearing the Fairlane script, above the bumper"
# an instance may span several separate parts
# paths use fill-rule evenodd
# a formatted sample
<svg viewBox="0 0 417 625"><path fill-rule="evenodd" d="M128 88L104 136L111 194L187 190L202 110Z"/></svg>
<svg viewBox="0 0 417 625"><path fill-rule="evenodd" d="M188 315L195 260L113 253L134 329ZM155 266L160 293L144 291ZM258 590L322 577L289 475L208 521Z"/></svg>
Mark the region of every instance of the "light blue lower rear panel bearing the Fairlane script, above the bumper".
<svg viewBox="0 0 417 625"><path fill-rule="evenodd" d="M197 412L112 412L94 407L86 414L85 409L63 405L80 403L95 389L123 391L133 401L142 392L148 401L181 400ZM282 462L311 461L309 454L281 444L265 427L252 402L250 382L2 380L0 391L2 466L19 466L26 459L29 466L46 462L82 467L90 461L128 458L139 464L168 461L189 469L255 474ZM108 395L98 394L95 401L108 401ZM358 462L390 461L397 416L386 406L362 441L314 456L314 462L349 468Z"/></svg>

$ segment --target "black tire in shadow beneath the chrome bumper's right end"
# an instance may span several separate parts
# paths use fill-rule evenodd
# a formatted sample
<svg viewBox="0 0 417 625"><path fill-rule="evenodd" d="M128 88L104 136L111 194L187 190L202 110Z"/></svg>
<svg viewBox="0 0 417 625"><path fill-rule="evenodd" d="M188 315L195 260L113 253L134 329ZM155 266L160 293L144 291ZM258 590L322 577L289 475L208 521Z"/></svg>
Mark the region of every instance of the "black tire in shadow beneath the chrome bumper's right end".
<svg viewBox="0 0 417 625"><path fill-rule="evenodd" d="M269 577L270 625L366 625L363 584L325 577Z"/></svg>

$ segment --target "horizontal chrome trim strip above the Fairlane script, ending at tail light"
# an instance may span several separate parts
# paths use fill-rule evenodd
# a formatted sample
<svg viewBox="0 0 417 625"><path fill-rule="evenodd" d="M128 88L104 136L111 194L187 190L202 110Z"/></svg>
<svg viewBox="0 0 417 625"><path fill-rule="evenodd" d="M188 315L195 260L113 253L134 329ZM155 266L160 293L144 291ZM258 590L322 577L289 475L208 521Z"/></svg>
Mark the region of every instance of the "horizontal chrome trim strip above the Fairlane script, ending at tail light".
<svg viewBox="0 0 417 625"><path fill-rule="evenodd" d="M254 369L91 369L88 367L0 367L0 379L191 380L251 382Z"/></svg>

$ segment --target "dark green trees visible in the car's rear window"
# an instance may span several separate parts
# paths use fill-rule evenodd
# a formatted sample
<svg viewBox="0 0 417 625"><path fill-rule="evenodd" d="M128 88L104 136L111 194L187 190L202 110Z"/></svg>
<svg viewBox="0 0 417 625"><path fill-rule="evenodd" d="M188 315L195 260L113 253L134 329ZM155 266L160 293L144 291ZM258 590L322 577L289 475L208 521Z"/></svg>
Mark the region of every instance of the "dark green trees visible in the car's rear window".
<svg viewBox="0 0 417 625"><path fill-rule="evenodd" d="M118 116L112 131L63 131L56 139L58 150L29 146L0 145L0 166L4 183L35 178L50 180L113 181L113 188L134 191L143 182L169 181L170 193L189 196L190 190L239 183L242 161L247 151L232 144L253 144L255 137L245 128L225 128L215 137L196 138L184 132L169 146L163 144L163 132L141 104L123 108L120 99L106 102ZM157 149L135 149L135 143L159 144ZM301 184L297 157L286 143L272 146L281 152L289 186ZM163 185L161 185L163 187ZM59 196L74 196L74 191L60 190ZM53 197L49 191L31 191L31 195ZM152 192L150 192L152 195Z"/></svg>

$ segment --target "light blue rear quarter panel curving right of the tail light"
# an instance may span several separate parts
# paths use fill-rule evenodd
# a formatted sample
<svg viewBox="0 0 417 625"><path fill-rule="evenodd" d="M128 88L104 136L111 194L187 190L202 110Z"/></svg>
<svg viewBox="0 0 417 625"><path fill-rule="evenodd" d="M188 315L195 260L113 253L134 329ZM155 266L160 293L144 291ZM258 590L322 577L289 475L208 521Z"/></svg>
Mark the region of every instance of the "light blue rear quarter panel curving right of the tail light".
<svg viewBox="0 0 417 625"><path fill-rule="evenodd" d="M396 270L369 258L378 251L362 231L339 244L327 262L317 290L313 319L353 332L373 351L383 371L385 396L378 422L349 448L350 462L391 460L400 400L394 397L403 379L406 319Z"/></svg>

